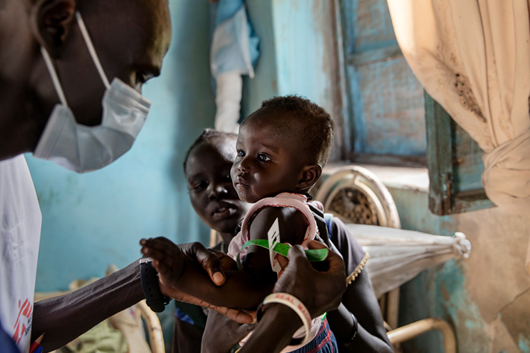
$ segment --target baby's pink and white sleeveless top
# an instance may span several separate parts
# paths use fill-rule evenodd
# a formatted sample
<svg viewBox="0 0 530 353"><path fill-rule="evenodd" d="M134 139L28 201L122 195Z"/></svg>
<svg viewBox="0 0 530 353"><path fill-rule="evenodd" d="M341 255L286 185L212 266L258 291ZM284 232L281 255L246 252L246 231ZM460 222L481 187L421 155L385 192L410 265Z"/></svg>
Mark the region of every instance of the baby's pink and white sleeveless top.
<svg viewBox="0 0 530 353"><path fill-rule="evenodd" d="M319 201L311 201L311 203L312 205L317 206L320 210L324 211L324 206ZM310 240L314 240L315 235L318 234L317 221L315 221L315 217L308 206L308 198L302 194L283 192L282 194L278 194L274 197L262 198L262 200L259 200L250 208L250 210L248 210L245 218L243 219L243 223L241 224L241 231L238 233L238 235L232 238L232 241L228 246L228 256L236 260L237 254L243 247L243 244L249 240L248 226L252 216L263 207L293 207L296 208L296 210L302 212L305 216L305 219L308 220L309 226L307 230L305 230L305 235L301 245L303 249L308 249L308 242ZM241 253L239 253L240 258L243 258L247 252L248 248L241 250ZM322 316L315 317L311 321L311 340L317 336L321 322ZM245 338L243 338L243 340L241 340L241 346L243 346L251 334L252 332L250 332ZM298 329L293 335L294 338L300 338L303 336L305 336L305 329L303 327ZM280 353L292 352L294 350L298 350L298 348L301 347L303 347L303 345L288 345Z"/></svg>

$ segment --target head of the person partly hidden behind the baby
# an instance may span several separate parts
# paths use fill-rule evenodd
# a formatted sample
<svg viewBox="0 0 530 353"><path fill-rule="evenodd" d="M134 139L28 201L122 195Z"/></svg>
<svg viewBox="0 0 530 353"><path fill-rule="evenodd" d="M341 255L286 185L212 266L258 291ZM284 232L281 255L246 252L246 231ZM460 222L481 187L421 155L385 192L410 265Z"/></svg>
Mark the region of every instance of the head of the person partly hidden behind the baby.
<svg viewBox="0 0 530 353"><path fill-rule="evenodd" d="M236 134L206 129L184 160L193 209L206 225L220 233L234 233L248 210L248 204L239 200L230 178L236 141Z"/></svg>

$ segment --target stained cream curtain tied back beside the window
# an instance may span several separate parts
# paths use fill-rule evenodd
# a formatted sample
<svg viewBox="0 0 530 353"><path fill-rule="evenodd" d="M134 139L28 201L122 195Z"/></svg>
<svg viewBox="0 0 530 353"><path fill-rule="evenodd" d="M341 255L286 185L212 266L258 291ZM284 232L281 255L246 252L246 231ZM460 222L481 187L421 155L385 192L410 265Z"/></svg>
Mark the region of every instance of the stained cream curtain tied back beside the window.
<svg viewBox="0 0 530 353"><path fill-rule="evenodd" d="M529 0L388 0L388 8L425 91L485 151L488 198L530 217Z"/></svg>

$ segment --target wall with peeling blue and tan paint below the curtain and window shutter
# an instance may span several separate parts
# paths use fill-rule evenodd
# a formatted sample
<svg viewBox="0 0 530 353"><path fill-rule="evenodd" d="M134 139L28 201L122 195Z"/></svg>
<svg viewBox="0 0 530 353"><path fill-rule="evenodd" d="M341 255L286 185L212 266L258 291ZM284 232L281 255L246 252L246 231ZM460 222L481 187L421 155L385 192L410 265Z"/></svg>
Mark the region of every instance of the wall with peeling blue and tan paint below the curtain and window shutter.
<svg viewBox="0 0 530 353"><path fill-rule="evenodd" d="M467 260L450 260L402 285L400 325L439 317L455 329L457 352L529 352L530 278L524 271L530 222L497 207L437 217L423 191L391 188L402 228L471 242ZM510 238L505 235L509 234ZM403 344L405 352L443 352L440 334Z"/></svg>

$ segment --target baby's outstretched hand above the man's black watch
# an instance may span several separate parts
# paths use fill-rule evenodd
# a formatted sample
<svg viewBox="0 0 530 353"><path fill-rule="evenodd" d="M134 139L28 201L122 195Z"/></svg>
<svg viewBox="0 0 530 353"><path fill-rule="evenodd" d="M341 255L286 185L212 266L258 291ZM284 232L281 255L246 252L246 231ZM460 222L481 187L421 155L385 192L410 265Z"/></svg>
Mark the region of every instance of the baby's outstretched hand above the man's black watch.
<svg viewBox="0 0 530 353"><path fill-rule="evenodd" d="M173 287L185 269L185 258L178 245L165 237L140 240L144 256L153 258L153 267L163 285Z"/></svg>

